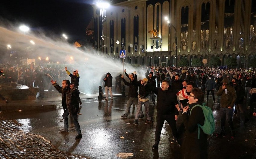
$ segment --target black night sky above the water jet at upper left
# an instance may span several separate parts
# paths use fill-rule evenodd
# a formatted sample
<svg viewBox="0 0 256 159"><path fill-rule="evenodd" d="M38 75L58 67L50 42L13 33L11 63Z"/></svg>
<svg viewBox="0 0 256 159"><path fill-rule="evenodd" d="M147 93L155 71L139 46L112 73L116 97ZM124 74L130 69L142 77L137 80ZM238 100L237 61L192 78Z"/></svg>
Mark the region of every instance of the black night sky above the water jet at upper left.
<svg viewBox="0 0 256 159"><path fill-rule="evenodd" d="M93 0L1 0L0 20L25 24L45 34L83 39L93 17Z"/></svg>

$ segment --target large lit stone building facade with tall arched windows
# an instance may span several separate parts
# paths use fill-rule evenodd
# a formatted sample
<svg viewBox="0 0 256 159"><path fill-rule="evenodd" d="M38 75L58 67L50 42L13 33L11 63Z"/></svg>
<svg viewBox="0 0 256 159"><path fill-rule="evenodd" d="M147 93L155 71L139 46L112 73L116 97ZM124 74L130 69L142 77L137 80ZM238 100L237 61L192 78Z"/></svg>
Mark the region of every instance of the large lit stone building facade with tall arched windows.
<svg viewBox="0 0 256 159"><path fill-rule="evenodd" d="M181 58L191 66L195 58L209 61L213 56L224 66L232 57L239 68L248 68L255 58L254 0L111 0L110 4L103 17L101 8L92 5L94 48L104 56L120 59L119 50L125 49L126 63L144 66L174 66Z"/></svg>

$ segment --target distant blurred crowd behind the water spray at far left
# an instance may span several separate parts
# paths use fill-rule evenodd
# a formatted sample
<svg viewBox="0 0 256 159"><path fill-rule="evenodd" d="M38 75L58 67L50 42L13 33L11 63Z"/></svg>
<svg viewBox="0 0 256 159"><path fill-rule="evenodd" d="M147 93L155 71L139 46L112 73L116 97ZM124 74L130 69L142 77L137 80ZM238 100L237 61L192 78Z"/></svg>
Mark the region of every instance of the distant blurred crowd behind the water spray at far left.
<svg viewBox="0 0 256 159"><path fill-rule="evenodd" d="M36 66L34 62L24 66L18 64L10 64L6 62L0 67L2 71L0 75L0 83L10 82L21 85L27 85L29 88L39 87L40 90L53 90L51 80L60 83L67 79L68 75L63 68ZM44 91L39 90L39 98L44 98Z"/></svg>

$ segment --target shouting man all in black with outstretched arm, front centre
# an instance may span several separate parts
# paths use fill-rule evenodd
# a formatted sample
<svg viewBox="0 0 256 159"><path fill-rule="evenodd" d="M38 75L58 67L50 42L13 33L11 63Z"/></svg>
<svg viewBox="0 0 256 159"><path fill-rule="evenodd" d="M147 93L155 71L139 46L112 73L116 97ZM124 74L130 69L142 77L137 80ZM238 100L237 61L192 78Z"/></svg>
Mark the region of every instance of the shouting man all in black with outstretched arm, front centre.
<svg viewBox="0 0 256 159"><path fill-rule="evenodd" d="M180 147L178 141L178 133L176 128L176 121L178 119L179 112L175 107L177 103L176 92L173 89L169 89L170 83L168 80L163 80L161 88L153 88L153 92L157 94L157 115L156 115L156 131L155 131L155 144L152 149L158 149L160 141L161 131L164 125L164 121L170 125L173 133L173 139L171 143L176 143Z"/></svg>

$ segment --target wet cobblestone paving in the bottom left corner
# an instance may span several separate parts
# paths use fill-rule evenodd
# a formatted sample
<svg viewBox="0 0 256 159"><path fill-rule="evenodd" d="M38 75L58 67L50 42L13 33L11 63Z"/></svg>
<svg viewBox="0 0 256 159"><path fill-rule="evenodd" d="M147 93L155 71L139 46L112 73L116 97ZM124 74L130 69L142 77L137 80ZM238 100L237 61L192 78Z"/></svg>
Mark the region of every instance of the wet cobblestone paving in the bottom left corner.
<svg viewBox="0 0 256 159"><path fill-rule="evenodd" d="M40 135L25 133L16 120L0 120L0 158L86 159L57 150Z"/></svg>

